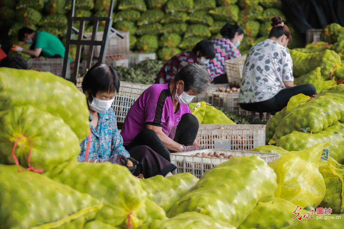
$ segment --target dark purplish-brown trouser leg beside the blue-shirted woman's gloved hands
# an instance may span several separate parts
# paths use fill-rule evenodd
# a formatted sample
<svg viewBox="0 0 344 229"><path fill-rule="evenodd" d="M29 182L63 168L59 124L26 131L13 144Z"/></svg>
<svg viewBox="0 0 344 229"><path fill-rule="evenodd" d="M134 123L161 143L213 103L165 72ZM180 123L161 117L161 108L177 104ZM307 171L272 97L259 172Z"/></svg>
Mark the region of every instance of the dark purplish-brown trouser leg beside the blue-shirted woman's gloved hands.
<svg viewBox="0 0 344 229"><path fill-rule="evenodd" d="M137 169L133 172L135 176L143 174L144 178L155 175L165 176L176 169L174 164L161 157L148 146L135 146L129 150L130 157L139 162Z"/></svg>

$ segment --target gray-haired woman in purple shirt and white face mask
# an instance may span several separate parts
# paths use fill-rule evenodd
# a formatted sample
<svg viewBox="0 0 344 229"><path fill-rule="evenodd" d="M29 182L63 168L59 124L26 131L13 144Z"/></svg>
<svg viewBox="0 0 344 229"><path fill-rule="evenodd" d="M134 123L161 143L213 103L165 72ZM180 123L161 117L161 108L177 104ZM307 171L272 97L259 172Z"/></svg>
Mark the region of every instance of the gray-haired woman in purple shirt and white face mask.
<svg viewBox="0 0 344 229"><path fill-rule="evenodd" d="M168 161L170 152L200 149L195 141L198 121L188 103L205 93L209 83L206 66L190 64L172 82L146 89L125 119L121 131L125 148L146 145Z"/></svg>

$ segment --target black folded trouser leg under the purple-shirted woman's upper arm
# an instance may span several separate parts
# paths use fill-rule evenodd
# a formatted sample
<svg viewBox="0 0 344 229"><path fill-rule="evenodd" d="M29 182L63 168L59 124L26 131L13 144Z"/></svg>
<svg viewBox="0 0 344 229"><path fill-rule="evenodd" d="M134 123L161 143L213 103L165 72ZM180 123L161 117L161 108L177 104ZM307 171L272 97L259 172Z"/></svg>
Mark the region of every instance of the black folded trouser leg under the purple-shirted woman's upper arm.
<svg viewBox="0 0 344 229"><path fill-rule="evenodd" d="M130 142L128 146L125 146L126 150L130 150L135 146L148 146L153 151L157 152L160 156L170 161L170 151L165 147L157 133L151 129L142 130L136 137Z"/></svg>

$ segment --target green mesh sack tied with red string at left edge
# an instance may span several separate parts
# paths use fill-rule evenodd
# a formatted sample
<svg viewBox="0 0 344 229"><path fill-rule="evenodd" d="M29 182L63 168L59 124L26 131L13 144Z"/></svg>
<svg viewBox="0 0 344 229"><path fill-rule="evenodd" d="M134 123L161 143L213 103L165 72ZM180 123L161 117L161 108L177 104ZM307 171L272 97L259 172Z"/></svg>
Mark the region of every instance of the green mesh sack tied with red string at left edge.
<svg viewBox="0 0 344 229"><path fill-rule="evenodd" d="M0 163L35 172L49 171L75 160L78 137L63 119L33 106L0 111ZM11 153L12 152L12 153Z"/></svg>

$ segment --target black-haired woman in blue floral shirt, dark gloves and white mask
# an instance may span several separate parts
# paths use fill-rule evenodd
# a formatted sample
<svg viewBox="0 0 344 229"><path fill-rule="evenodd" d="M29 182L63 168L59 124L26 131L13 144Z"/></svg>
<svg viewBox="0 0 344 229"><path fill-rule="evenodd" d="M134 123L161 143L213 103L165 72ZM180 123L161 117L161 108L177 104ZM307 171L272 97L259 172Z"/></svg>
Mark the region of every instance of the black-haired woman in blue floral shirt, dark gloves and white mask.
<svg viewBox="0 0 344 229"><path fill-rule="evenodd" d="M172 175L176 167L147 146L137 146L128 152L117 129L115 113L110 109L119 90L116 71L106 64L96 64L84 76L82 87L90 112L90 136L81 143L78 161L117 163L128 167L134 175L145 178ZM86 156L89 148L88 156ZM85 160L86 158L86 160Z"/></svg>

